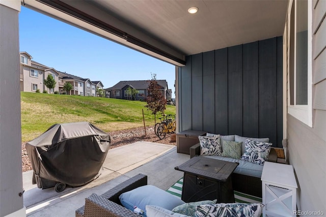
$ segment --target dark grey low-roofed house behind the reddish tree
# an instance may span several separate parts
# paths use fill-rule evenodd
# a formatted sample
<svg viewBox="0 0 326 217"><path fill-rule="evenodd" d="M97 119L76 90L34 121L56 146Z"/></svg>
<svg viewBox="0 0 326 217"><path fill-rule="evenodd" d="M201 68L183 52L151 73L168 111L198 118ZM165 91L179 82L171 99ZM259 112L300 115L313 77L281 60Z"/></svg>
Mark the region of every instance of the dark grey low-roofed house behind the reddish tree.
<svg viewBox="0 0 326 217"><path fill-rule="evenodd" d="M156 80L159 90L162 91L166 99L171 99L172 93L169 91L167 80ZM111 88L106 88L106 98L129 99L127 88L131 87L138 90L135 100L145 99L147 96L148 80L127 80L117 83Z"/></svg>

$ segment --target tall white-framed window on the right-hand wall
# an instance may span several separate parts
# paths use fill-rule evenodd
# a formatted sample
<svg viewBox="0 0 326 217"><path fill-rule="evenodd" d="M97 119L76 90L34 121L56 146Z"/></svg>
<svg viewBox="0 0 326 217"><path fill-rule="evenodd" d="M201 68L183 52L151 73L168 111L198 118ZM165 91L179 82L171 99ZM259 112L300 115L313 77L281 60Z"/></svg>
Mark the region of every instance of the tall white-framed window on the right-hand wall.
<svg viewBox="0 0 326 217"><path fill-rule="evenodd" d="M286 24L288 113L312 126L312 2L293 1Z"/></svg>

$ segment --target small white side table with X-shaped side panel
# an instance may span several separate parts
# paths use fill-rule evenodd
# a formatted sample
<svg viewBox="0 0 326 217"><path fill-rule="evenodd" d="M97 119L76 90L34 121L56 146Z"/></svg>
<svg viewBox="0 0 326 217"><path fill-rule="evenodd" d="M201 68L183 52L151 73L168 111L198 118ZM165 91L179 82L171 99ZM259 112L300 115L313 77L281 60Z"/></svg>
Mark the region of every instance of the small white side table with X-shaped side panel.
<svg viewBox="0 0 326 217"><path fill-rule="evenodd" d="M296 216L296 180L291 165L265 161L261 175L263 217Z"/></svg>

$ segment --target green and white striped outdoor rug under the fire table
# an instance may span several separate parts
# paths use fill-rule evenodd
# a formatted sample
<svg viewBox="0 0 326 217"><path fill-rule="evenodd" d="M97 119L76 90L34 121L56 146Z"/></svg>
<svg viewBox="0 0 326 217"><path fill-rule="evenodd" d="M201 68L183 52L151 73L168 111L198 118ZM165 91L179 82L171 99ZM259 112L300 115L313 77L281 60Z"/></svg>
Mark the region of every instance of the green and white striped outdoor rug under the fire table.
<svg viewBox="0 0 326 217"><path fill-rule="evenodd" d="M167 192L181 198L182 183L183 183L183 178L178 180L174 185L172 185L169 189L167 189ZM261 198L243 194L236 191L234 191L234 199L236 203L262 203Z"/></svg>

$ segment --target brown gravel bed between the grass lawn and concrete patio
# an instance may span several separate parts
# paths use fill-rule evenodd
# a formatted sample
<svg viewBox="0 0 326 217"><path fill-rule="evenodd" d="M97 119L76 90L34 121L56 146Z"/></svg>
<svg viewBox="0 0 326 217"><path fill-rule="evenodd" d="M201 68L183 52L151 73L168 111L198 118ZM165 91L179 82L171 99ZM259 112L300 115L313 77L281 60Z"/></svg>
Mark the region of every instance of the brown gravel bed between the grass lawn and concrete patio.
<svg viewBox="0 0 326 217"><path fill-rule="evenodd" d="M168 145L176 145L175 141L171 140L172 134L167 134L164 140L160 140L154 133L154 126L146 127L146 135L144 127L137 127L132 129L124 129L109 132L111 136L110 149L134 143L137 141L147 141L154 143L162 143ZM175 139L175 138L174 138ZM21 144L21 158L22 158L22 171L26 172L32 170L31 161L28 157L26 143Z"/></svg>

